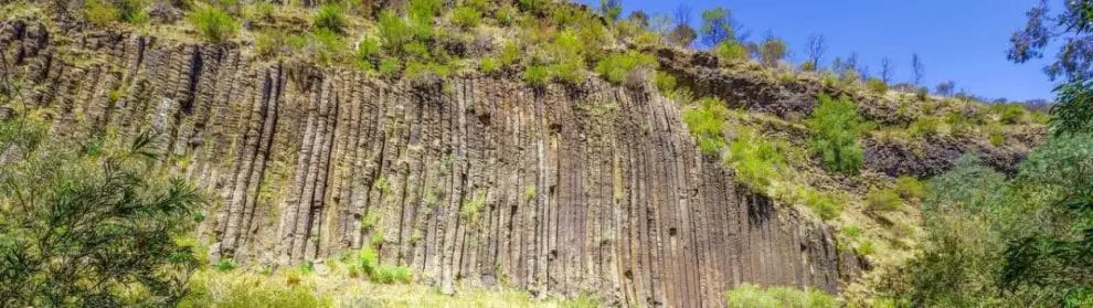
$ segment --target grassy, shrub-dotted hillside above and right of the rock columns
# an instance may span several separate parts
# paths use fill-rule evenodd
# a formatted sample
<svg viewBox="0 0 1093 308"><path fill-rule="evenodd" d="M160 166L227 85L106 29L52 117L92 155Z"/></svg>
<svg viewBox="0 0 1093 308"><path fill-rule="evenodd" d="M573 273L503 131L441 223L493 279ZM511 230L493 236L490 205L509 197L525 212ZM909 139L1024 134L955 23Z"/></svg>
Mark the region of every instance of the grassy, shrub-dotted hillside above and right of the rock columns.
<svg viewBox="0 0 1093 308"><path fill-rule="evenodd" d="M711 51L681 47L693 32L657 29L664 26L648 17L604 18L551 1L456 2L125 0L81 8L7 3L0 11L6 22L35 20L54 41L70 42L51 45L63 49L62 61L95 61L99 39L147 35L159 44L236 51L256 65L279 62L385 84L492 78L580 96L609 83L664 96L678 104L698 150L722 160L750 190L836 226L840 248L878 270L898 267L914 251L919 179L964 153L1011 171L1043 132L1043 115L1019 105L890 88L852 70L792 67L784 52L754 61L747 44L733 40ZM816 111L821 105L830 113Z"/></svg>

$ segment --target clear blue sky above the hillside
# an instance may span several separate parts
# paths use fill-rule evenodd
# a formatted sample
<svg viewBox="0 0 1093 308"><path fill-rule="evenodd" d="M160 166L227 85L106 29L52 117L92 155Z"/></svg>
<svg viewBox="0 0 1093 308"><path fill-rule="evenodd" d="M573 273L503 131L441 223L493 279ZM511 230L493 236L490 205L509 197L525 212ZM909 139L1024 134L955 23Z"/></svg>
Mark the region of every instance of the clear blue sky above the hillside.
<svg viewBox="0 0 1093 308"><path fill-rule="evenodd" d="M1054 83L1042 67L1044 60L1015 64L1006 60L1009 36L1025 25L1025 12L1038 0L623 0L623 15L644 10L668 15L679 3L691 7L698 29L701 11L722 6L751 32L750 40L767 31L789 43L790 60L799 63L813 33L827 36L821 63L858 53L858 63L877 74L882 57L895 63L895 78L911 79L911 53L925 64L923 84L931 89L955 81L956 89L987 98L1010 100L1053 98ZM579 0L597 7L598 0ZM1055 2L1055 1L1052 1ZM1053 9L1060 8L1054 6Z"/></svg>

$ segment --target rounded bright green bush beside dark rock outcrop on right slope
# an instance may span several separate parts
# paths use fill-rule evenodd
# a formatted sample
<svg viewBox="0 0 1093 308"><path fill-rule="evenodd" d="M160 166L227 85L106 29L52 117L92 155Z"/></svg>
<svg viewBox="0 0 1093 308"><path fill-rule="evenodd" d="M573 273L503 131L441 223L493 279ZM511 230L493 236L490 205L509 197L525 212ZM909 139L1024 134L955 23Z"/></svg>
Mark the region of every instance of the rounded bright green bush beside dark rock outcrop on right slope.
<svg viewBox="0 0 1093 308"><path fill-rule="evenodd" d="M859 172L864 151L858 144L862 127L853 102L821 94L807 125L813 131L813 151L824 162L824 169L846 174Z"/></svg>

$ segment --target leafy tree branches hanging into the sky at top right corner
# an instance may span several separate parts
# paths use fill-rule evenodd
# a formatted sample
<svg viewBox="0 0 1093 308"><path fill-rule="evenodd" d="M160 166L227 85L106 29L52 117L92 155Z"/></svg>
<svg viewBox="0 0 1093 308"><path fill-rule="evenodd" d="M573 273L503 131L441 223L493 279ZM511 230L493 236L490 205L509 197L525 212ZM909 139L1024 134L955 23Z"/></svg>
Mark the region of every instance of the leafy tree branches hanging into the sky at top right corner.
<svg viewBox="0 0 1093 308"><path fill-rule="evenodd" d="M1014 32L1009 39L1007 59L1026 63L1042 59L1051 42L1061 44L1054 62L1043 68L1054 81L1059 76L1068 81L1093 77L1093 0L1064 1L1063 11L1048 15L1048 1L1040 1L1026 15L1025 29Z"/></svg>

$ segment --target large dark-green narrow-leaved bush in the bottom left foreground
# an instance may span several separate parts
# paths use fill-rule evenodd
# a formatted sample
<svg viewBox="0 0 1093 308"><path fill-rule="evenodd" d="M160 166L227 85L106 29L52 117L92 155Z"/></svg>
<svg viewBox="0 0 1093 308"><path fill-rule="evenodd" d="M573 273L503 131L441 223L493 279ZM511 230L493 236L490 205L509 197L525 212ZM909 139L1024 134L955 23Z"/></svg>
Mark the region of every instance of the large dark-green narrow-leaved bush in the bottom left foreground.
<svg viewBox="0 0 1093 308"><path fill-rule="evenodd" d="M152 167L150 135L128 146L44 142L44 132L33 131L44 126L33 124L22 115L0 123L0 140L18 140L0 144L3 304L180 300L200 263L191 243L180 241L203 202L197 189Z"/></svg>

